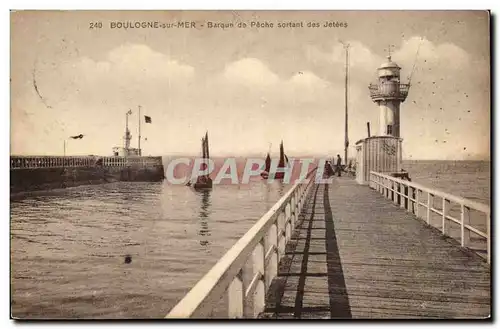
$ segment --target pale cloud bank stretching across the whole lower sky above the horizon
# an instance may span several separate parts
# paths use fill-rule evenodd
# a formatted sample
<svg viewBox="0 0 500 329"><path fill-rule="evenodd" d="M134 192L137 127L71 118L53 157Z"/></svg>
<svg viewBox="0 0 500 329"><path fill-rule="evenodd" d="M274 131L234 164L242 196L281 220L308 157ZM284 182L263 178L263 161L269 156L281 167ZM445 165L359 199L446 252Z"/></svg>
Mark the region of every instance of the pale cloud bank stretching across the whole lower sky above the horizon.
<svg viewBox="0 0 500 329"><path fill-rule="evenodd" d="M367 86L375 82L376 69L386 59L359 41L348 42L349 137L354 154L354 142L366 137L367 121L372 134L377 133L378 109ZM411 72L419 44L412 88L401 109L405 154L440 157L443 150L435 139L462 143L463 131L475 141L466 141L467 149L487 141L487 63L454 44L436 45L416 36L393 53L403 68L403 80ZM153 124L143 128L143 136L150 136L143 147L151 154L198 153L198 137L207 129L214 154L264 152L269 142L280 139L290 152L334 154L343 148L344 138L344 49L338 43L326 50L306 46L304 55L293 64L303 69L291 75L257 57L240 58L207 74L141 44L112 49L102 60L80 57L56 66L41 62L37 84L52 108L45 107L32 89L13 100L13 152L39 153L55 145L47 152L60 153L65 136L84 133L86 138L69 146L74 147L72 153L109 154L112 146L122 143L129 108L134 111L133 141L137 137L140 104L153 118ZM443 122L452 135L439 130ZM304 128L307 136L297 133ZM28 142L25 131L33 131L37 142Z"/></svg>

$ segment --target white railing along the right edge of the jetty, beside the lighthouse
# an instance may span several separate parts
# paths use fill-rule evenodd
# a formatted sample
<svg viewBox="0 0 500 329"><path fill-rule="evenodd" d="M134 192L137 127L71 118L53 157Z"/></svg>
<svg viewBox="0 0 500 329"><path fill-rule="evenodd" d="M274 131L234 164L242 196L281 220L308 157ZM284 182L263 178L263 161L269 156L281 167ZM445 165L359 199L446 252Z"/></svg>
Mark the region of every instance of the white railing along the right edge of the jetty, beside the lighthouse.
<svg viewBox="0 0 500 329"><path fill-rule="evenodd" d="M491 212L488 205L374 171L370 172L370 187L427 224L440 228L444 235L460 241L462 247L473 249L481 256L485 252L490 263ZM422 208L423 212L420 211ZM471 233L479 240L485 240L486 250L474 248Z"/></svg>

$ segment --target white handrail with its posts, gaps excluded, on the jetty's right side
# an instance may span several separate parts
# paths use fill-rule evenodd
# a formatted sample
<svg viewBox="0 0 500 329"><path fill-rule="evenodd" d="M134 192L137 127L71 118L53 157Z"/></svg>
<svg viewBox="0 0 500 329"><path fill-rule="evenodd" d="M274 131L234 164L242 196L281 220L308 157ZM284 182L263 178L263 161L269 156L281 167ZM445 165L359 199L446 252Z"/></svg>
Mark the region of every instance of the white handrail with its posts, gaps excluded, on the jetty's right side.
<svg viewBox="0 0 500 329"><path fill-rule="evenodd" d="M396 189L395 185L398 185ZM407 189L401 190L400 186L404 186ZM374 188L386 198L392 199L395 203L398 202L398 196L400 198L401 208L406 208L410 211L411 205L414 205L415 215L418 218L425 217L427 224L430 224L431 213L435 213L441 216L441 231L445 235L449 235L449 221L460 225L460 242L462 247L467 247L469 243L469 234L473 232L479 236L486 238L486 258L488 264L491 261L491 232L490 232L490 207L486 204L468 200L462 197L451 195L439 190L425 187L423 185L410 182L407 180L392 177L386 174L382 174L375 171L370 171L370 187ZM411 193L410 193L411 190ZM392 193L391 193L392 192ZM426 202L421 202L421 192L427 193ZM414 196L415 195L415 196ZM438 197L442 199L442 209L438 210L433 207L433 199ZM406 205L403 200L406 199ZM450 203L456 203L460 205L460 219L453 218L448 215L450 209ZM427 209L426 215L421 216L419 213L419 207L423 206ZM473 227L469 223L469 212L470 210L477 210L486 215L486 232Z"/></svg>

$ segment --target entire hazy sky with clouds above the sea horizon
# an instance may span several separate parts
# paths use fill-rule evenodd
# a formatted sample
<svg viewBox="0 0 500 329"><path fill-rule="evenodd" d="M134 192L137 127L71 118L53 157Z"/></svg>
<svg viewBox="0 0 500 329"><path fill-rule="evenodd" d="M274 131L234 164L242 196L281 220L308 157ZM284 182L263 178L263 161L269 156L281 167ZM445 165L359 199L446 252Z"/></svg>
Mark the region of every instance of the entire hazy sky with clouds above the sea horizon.
<svg viewBox="0 0 500 329"><path fill-rule="evenodd" d="M196 26L111 28L179 21ZM11 154L62 155L66 141L68 155L110 155L123 145L129 109L135 147L139 105L152 119L141 124L144 155L196 155L206 131L212 156L265 156L270 145L277 154L281 140L291 156L343 154L342 42L350 44L350 156L366 122L377 134L367 87L391 49L403 83L415 65L401 105L403 158L490 158L484 11L13 12Z"/></svg>

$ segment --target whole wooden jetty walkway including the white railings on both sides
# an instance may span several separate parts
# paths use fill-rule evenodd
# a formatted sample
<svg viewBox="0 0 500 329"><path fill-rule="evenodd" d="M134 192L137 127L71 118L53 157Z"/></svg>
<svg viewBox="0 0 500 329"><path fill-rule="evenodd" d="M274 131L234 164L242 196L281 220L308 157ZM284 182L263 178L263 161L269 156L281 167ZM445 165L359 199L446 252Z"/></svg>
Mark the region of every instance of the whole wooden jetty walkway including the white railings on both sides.
<svg viewBox="0 0 500 329"><path fill-rule="evenodd" d="M488 318L489 207L370 179L292 188L167 318Z"/></svg>

